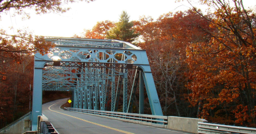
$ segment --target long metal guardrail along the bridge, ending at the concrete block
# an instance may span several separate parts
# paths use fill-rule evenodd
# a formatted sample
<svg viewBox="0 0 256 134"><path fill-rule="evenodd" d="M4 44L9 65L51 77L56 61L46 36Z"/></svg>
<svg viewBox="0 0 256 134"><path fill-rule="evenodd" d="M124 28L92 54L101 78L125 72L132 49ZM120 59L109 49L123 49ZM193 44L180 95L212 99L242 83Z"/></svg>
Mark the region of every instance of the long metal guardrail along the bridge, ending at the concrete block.
<svg viewBox="0 0 256 134"><path fill-rule="evenodd" d="M148 114L134 114L134 113L123 113L123 112L111 112L111 111L100 111L100 110L85 110L79 108L65 108L67 111L86 113L91 115L102 116L105 118L111 118L116 120L122 120L127 122L153 125L156 127L166 128L168 116L160 115L148 115Z"/></svg>

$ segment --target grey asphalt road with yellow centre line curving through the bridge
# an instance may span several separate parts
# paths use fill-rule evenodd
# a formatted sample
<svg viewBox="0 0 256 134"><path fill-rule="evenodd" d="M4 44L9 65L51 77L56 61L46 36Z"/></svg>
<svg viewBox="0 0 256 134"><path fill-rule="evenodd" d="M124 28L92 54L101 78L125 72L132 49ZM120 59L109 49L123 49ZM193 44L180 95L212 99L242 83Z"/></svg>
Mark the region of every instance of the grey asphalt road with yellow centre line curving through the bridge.
<svg viewBox="0 0 256 134"><path fill-rule="evenodd" d="M156 128L142 124L112 120L82 113L64 111L60 106L67 99L60 99L43 105L43 114L61 134L64 133L186 133L177 130Z"/></svg>

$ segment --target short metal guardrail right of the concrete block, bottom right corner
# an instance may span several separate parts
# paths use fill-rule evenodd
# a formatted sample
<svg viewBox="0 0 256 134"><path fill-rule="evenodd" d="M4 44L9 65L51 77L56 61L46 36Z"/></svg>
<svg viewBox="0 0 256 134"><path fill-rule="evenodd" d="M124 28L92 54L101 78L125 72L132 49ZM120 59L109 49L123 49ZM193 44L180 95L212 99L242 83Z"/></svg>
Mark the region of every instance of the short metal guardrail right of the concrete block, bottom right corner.
<svg viewBox="0 0 256 134"><path fill-rule="evenodd" d="M256 133L256 128L198 122L198 133Z"/></svg>

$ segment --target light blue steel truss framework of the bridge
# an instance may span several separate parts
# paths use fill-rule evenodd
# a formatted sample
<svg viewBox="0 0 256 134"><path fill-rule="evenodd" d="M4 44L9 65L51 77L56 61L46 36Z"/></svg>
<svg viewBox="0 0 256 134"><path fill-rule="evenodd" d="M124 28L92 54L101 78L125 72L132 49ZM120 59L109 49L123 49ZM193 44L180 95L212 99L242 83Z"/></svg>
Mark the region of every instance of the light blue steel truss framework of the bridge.
<svg viewBox="0 0 256 134"><path fill-rule="evenodd" d="M122 112L131 112L138 88L143 113L146 87L152 114L163 115L145 50L119 40L46 40L55 47L47 55L35 54L32 130L42 114L43 90L72 91L74 108L115 112L122 101Z"/></svg>

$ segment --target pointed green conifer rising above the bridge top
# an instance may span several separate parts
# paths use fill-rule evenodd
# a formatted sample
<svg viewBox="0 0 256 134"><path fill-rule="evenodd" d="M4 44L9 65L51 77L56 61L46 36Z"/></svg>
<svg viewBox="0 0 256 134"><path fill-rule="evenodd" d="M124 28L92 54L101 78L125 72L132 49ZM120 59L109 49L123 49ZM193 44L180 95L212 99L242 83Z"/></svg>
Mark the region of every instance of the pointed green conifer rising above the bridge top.
<svg viewBox="0 0 256 134"><path fill-rule="evenodd" d="M106 38L122 40L130 43L134 41L139 34L135 34L135 30L132 28L133 22L129 22L129 19L130 16L123 11L120 15L119 22L116 23L116 27L107 32Z"/></svg>

